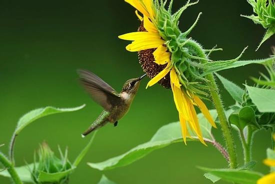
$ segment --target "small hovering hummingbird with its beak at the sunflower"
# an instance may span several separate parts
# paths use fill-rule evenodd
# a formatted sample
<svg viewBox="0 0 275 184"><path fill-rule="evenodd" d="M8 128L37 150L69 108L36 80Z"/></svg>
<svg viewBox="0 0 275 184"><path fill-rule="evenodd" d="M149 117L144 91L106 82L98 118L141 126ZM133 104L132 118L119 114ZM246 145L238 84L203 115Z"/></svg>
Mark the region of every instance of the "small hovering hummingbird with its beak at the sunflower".
<svg viewBox="0 0 275 184"><path fill-rule="evenodd" d="M117 93L110 85L95 74L82 69L77 72L80 83L85 90L97 104L104 108L90 127L81 134L82 137L85 137L93 130L104 126L108 122L117 126L118 120L128 112L138 90L140 80L146 76L144 74L141 77L127 80L120 93Z"/></svg>

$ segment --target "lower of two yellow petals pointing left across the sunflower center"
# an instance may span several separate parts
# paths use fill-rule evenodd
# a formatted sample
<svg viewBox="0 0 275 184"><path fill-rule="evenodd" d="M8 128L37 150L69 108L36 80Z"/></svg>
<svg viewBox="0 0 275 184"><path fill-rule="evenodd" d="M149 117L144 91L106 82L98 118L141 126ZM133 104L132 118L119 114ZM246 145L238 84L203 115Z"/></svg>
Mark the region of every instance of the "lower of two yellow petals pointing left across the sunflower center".
<svg viewBox="0 0 275 184"><path fill-rule="evenodd" d="M162 44L162 41L158 39L147 39L147 42L144 42L143 40L133 41L131 44L126 46L126 50L130 52L139 52L147 49L157 48L160 44Z"/></svg>

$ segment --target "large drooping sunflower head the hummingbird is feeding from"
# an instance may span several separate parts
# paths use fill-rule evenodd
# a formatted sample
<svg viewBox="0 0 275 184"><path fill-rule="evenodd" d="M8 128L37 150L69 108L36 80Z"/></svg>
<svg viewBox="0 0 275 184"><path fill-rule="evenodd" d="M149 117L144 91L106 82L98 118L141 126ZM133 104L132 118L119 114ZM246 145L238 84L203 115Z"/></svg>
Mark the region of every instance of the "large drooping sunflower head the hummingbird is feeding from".
<svg viewBox="0 0 275 184"><path fill-rule="evenodd" d="M183 8L171 15L172 3L167 11L164 9L165 3L161 1L159 4L158 0L125 0L125 2L136 9L135 14L141 24L137 32L127 33L118 38L132 41L126 46L126 50L138 52L139 63L151 78L147 87L159 83L172 90L184 143L186 144L186 137L190 137L191 131L201 143L205 144L194 106L200 109L213 127L216 126L201 100L204 98L203 95L207 96L202 90L207 86L202 85L205 80L198 76L199 70L194 67L199 63L191 61L201 58L193 56L191 52L185 52L188 44L191 44L189 41L192 42L186 39L190 30L184 35L177 27L181 13L195 3L190 4L188 1ZM184 45L187 47L184 48ZM190 48L188 51L191 51Z"/></svg>

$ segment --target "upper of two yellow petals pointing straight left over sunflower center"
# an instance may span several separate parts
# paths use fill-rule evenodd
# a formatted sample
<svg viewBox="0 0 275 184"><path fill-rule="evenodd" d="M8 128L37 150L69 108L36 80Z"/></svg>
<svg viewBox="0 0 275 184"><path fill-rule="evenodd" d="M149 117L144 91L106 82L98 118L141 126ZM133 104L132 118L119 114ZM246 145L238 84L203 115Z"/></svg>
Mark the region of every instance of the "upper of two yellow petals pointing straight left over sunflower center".
<svg viewBox="0 0 275 184"><path fill-rule="evenodd" d="M128 41L140 40L140 41L143 41L143 42L148 42L148 39L156 39L156 40L159 40L159 42L161 41L161 43L164 43L164 41L161 40L158 33L149 33L149 32L126 33L124 35L118 36L118 38L122 39L122 40L128 40ZM155 48L157 48L157 47L155 47Z"/></svg>

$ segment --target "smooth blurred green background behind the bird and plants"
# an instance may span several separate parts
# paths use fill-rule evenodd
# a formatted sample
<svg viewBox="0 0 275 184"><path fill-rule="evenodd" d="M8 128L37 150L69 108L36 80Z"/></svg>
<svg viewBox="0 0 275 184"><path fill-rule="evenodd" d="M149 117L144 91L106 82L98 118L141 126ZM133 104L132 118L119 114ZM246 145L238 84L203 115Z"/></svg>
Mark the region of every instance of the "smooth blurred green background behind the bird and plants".
<svg viewBox="0 0 275 184"><path fill-rule="evenodd" d="M174 10L185 4L175 0ZM252 13L242 0L201 1L187 9L180 28L187 29L197 14L203 15L191 37L203 45L223 48L211 59L231 59L249 46L242 59L258 59L270 54L274 37L254 52L264 34L259 25L239 15ZM16 122L29 110L44 107L74 107L86 104L83 110L48 116L25 128L15 145L17 165L32 162L33 150L46 140L57 152L68 146L73 160L89 138L80 133L98 116L102 108L91 101L78 84L76 69L90 70L117 91L123 82L142 74L137 54L127 52L129 43L118 35L135 31L139 21L134 9L122 0L101 1L1 1L0 3L0 143L7 147ZM242 85L249 77L263 71L259 65L220 72ZM153 86L145 90L148 79L142 81L128 114L116 128L105 126L95 137L93 145L80 166L70 177L70 183L97 183L102 172L89 168L86 162L103 161L119 155L149 140L164 124L177 121L171 91ZM224 105L233 100L220 87ZM212 104L208 103L211 108ZM219 132L214 130L219 141ZM235 134L237 138L237 135ZM256 170L267 173L262 164L270 138L260 131L254 141L253 159ZM239 141L236 146L240 149ZM238 154L242 160L241 152ZM103 172L118 184L126 183L211 183L196 166L224 167L226 162L211 145L189 142L176 143L156 150L132 163ZM0 183L10 183L0 177ZM222 183L222 182L220 182Z"/></svg>

